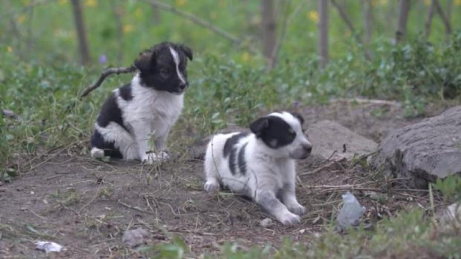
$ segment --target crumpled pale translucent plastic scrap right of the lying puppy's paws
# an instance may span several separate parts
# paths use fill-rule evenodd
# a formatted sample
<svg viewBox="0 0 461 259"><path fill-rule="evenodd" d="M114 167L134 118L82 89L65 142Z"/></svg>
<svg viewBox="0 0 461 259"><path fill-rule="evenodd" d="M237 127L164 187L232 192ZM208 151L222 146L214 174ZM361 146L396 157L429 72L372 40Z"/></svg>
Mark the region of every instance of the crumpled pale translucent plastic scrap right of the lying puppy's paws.
<svg viewBox="0 0 461 259"><path fill-rule="evenodd" d="M365 212L365 207L361 206L357 198L349 191L342 197L344 205L337 217L337 230L339 231L344 231L349 226L357 227L360 224L360 218Z"/></svg>

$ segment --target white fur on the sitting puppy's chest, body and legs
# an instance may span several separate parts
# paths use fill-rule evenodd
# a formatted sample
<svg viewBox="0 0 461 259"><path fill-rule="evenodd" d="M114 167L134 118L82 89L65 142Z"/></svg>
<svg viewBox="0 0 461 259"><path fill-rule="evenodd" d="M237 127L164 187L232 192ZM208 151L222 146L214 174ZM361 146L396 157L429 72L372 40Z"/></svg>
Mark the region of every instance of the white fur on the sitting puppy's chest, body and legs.
<svg viewBox="0 0 461 259"><path fill-rule="evenodd" d="M130 133L115 122L106 127L96 123L96 129L104 140L114 141L114 146L120 150L124 159L139 159L149 163L165 159L167 155L163 151L166 138L181 114L184 95L144 87L140 84L139 74L132 79L131 87L133 99L129 101L119 96L118 89L114 91L123 123ZM151 137L156 153L148 154L152 150L149 145ZM100 155L98 149L94 147L92 155Z"/></svg>

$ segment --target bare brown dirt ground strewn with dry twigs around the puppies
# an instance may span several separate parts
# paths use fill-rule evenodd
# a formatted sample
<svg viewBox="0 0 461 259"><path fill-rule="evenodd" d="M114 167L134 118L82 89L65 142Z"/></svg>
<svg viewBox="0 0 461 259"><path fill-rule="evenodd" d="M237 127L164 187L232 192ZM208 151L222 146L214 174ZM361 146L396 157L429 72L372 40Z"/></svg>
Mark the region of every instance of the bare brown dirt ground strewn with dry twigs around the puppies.
<svg viewBox="0 0 461 259"><path fill-rule="evenodd" d="M419 120L404 119L399 106L383 103L338 101L297 110L306 125L336 120L375 141ZM74 149L38 156L20 177L0 185L0 257L134 258L140 255L123 245L122 234L138 227L151 233L146 245L169 242L177 234L194 256L216 253L226 241L245 247L267 243L278 247L289 236L306 243L329 224L341 194L351 185L367 207L366 222L427 202L424 192L389 191L395 182L384 181L360 165L301 161L298 174L303 176L297 194L308 208L302 224L262 227L260 221L268 215L254 203L226 191L205 193L202 161L187 153L150 166L116 160L104 163L78 156ZM376 201L376 193L386 197L385 205ZM36 241L54 241L67 250L46 255L35 250Z"/></svg>

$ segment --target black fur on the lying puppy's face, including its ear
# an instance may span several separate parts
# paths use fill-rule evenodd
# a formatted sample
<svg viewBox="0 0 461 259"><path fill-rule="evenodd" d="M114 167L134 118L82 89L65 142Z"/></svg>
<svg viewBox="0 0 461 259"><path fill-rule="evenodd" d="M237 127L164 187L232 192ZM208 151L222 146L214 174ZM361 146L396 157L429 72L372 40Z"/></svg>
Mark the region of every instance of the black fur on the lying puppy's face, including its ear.
<svg viewBox="0 0 461 259"><path fill-rule="evenodd" d="M250 124L252 132L269 147L279 148L296 138L295 131L282 118L267 116Z"/></svg>

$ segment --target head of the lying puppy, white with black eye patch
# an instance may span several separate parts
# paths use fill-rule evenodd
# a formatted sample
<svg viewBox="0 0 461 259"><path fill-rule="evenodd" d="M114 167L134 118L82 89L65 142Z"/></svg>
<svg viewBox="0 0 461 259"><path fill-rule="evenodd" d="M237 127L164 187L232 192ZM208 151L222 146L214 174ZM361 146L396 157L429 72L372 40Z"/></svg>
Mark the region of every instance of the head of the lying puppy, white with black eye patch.
<svg viewBox="0 0 461 259"><path fill-rule="evenodd" d="M299 114L271 113L250 124L250 130L279 157L305 159L312 145L304 135L304 119Z"/></svg>

